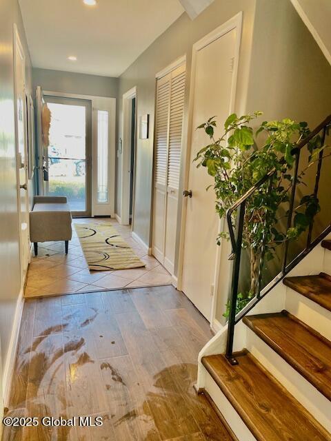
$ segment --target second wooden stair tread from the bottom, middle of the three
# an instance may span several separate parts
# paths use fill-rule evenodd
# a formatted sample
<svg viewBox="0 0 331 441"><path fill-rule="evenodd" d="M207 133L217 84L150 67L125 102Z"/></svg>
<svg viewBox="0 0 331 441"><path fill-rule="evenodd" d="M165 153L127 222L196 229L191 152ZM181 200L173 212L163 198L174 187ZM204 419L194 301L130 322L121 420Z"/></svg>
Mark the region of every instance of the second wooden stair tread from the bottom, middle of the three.
<svg viewBox="0 0 331 441"><path fill-rule="evenodd" d="M331 400L331 342L282 311L246 316L243 322L323 396Z"/></svg>

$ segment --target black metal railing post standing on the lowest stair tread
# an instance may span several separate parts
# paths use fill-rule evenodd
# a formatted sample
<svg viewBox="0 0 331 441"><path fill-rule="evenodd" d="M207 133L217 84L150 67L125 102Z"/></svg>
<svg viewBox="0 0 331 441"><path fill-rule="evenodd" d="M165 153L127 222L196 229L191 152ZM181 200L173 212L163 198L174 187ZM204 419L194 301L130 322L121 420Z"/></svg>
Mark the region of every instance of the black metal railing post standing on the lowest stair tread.
<svg viewBox="0 0 331 441"><path fill-rule="evenodd" d="M232 270L232 288L230 297L230 312L228 321L228 339L226 344L225 357L228 358L231 365L238 365L237 360L232 356L233 340L234 340L234 326L236 325L236 309L237 297L239 287L239 271L240 271L240 257L241 244L243 241L243 220L245 216L245 201L239 205L239 216L237 223L237 242L235 249L234 264Z"/></svg>

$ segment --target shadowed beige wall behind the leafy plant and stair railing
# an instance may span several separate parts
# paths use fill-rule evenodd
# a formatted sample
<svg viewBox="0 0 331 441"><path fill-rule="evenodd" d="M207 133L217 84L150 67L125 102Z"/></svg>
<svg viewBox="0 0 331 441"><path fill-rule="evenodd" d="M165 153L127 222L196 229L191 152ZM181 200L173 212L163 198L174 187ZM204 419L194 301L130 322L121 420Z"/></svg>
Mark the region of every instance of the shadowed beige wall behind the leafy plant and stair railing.
<svg viewBox="0 0 331 441"><path fill-rule="evenodd" d="M331 66L290 0L258 1L246 110L262 110L261 120L307 121L312 129L331 113ZM322 170L323 188L327 185L325 167ZM311 171L312 192L316 171ZM327 192L324 194L326 196ZM322 199L323 196L321 205L325 207ZM325 214L330 219L330 211ZM228 254L229 246L225 244L221 259L223 275L230 271ZM278 272L278 268L275 270ZM228 296L224 289L228 281L224 279L225 276L218 293L216 314L221 322Z"/></svg>

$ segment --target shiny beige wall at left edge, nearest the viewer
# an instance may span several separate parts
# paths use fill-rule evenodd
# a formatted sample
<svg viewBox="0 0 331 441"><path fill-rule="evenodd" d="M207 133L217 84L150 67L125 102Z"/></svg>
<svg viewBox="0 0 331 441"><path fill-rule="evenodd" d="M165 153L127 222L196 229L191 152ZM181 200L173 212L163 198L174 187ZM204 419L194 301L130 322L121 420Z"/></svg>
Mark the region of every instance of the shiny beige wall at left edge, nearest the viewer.
<svg viewBox="0 0 331 441"><path fill-rule="evenodd" d="M19 225L14 147L14 79L12 27L17 23L26 53L26 89L30 93L31 63L17 0L0 1L0 338L6 363L19 296Z"/></svg>

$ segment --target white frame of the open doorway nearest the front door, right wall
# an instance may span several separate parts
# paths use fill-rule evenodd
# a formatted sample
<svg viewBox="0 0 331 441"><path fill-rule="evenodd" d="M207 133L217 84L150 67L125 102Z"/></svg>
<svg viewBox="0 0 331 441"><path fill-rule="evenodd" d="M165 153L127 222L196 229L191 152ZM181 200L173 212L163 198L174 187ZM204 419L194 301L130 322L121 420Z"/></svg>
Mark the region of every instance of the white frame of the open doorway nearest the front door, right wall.
<svg viewBox="0 0 331 441"><path fill-rule="evenodd" d="M123 121L122 121L122 147L121 147L121 216L119 223L129 225L130 223L130 174L131 174L131 123L132 123L132 99L136 99L136 122L137 122L137 87L128 90L123 94ZM136 133L137 138L137 123ZM136 142L137 144L137 142ZM134 164L135 169L135 164ZM133 194L132 194L132 229L134 222L134 182L133 171Z"/></svg>

